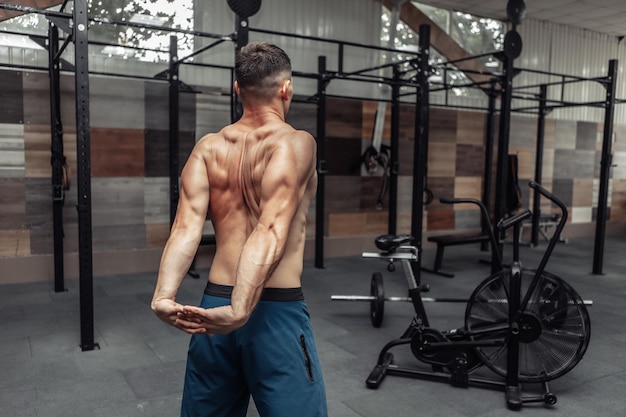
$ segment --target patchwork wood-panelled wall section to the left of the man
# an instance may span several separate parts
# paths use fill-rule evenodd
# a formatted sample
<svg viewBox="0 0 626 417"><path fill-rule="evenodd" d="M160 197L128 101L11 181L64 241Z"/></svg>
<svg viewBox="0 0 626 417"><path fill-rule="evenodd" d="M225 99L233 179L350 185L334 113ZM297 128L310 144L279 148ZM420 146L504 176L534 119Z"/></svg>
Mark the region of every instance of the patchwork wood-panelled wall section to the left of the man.
<svg viewBox="0 0 626 417"><path fill-rule="evenodd" d="M53 252L48 75L0 71L0 257ZM62 77L71 189L64 246L76 252L76 133L72 77ZM16 104L17 103L17 104ZM161 248L169 232L168 87L92 77L93 250ZM181 95L180 164L195 142L195 96Z"/></svg>

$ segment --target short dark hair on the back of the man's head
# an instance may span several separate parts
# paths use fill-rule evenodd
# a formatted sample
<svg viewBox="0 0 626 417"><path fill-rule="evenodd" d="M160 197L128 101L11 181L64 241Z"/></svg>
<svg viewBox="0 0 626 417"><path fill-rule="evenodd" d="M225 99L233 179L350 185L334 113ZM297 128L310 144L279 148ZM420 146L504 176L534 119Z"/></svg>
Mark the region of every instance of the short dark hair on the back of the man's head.
<svg viewBox="0 0 626 417"><path fill-rule="evenodd" d="M271 98L282 73L291 78L291 61L285 51L271 43L251 42L235 57L235 79L242 98L247 94Z"/></svg>

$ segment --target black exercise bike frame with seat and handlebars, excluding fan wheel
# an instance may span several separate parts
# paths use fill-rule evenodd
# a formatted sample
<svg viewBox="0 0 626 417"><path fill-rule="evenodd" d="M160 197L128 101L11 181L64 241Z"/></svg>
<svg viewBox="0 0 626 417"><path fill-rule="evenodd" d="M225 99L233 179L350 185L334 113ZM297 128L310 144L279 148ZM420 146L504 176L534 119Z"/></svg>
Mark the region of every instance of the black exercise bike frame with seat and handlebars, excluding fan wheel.
<svg viewBox="0 0 626 417"><path fill-rule="evenodd" d="M531 181L529 186L539 192L541 195L549 199L556 204L562 212L561 219L556 227L553 237L550 239L548 246L539 262L537 269L534 272L532 281L525 294L521 293L521 275L522 267L519 259L519 235L521 229L521 223L531 216L530 211L523 210L520 213L498 222L495 229L499 234L502 234L505 230L513 228L513 262L509 266L505 266L502 260L502 253L495 237L493 229L488 228L489 238L492 248L492 261L495 263L494 274L506 274L505 276L509 281L509 301L508 301L508 323L501 323L499 325L489 326L481 328L479 330L469 330L467 326L460 329L454 329L447 332L441 332L435 329L430 329L428 322L428 315L424 307L421 293L429 290L428 285L421 284L415 278L415 268L419 268L416 258L408 258L406 252L416 253L417 249L413 246L397 246L391 248L388 252L380 254L380 258L387 259L390 264L394 260L400 260L402 267L404 268L407 284L409 288L409 297L412 301L415 315L411 321L411 324L407 327L405 332L398 339L391 340L381 350L378 361L369 377L366 380L366 385L369 388L377 388L385 375L398 375L407 377L427 378L439 381L450 382L455 386L468 386L470 384L486 385L493 388L504 389L507 406L511 409L519 409L523 403L530 402L544 402L546 404L555 404L556 396L550 392L546 381L541 381L543 393L540 395L523 395L521 390L521 384L519 379L519 352L520 352L520 320L522 314L530 302L530 297L538 285L539 279L545 271L546 264L552 255L554 247L559 240L559 236L565 226L568 217L568 211L565 204L550 192L545 190L539 184ZM489 214L485 206L476 199L471 198L442 198L442 203L457 204L457 203L472 203L476 204L480 210L483 219L489 223ZM401 237L402 238L402 237ZM404 236L404 241L410 241L410 236ZM400 239L402 240L402 239ZM396 252L398 250L399 252ZM365 255L365 254L364 254ZM420 347L425 355L437 354L439 352L450 351L453 354L457 354L457 357L452 362L452 366L448 364L449 372L445 372L443 366L432 365L432 371L424 371L406 367L399 367L394 365L393 354L389 350L398 345L412 343L416 334L420 332L435 332L435 334L444 335L444 340L431 340L429 343L425 343ZM506 336L502 336L502 334ZM489 335L500 335L499 337L489 337ZM486 338L485 335L487 336ZM481 336L481 340L473 340L475 336ZM450 340L453 339L453 340ZM481 347L499 347L506 345L507 348L507 360L506 360L506 378L504 381L501 379L490 379L470 376L472 372L472 364L468 358L467 353L473 352L476 348ZM413 347L413 346L412 346ZM460 354L459 354L460 353ZM584 351L583 351L584 353ZM421 359L420 359L421 360ZM482 365L479 363L476 367Z"/></svg>

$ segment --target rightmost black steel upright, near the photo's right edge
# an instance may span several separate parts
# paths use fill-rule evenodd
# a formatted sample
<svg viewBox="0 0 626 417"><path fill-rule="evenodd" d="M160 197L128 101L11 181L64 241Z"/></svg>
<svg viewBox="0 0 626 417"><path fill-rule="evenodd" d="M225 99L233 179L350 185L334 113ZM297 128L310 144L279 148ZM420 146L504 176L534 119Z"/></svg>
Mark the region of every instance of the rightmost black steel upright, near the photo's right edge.
<svg viewBox="0 0 626 417"><path fill-rule="evenodd" d="M604 111L604 134L602 137L602 157L600 159L600 189L598 192L598 214L596 216L596 237L593 250L593 273L602 274L604 263L604 239L606 237L606 221L608 220L607 201L609 196L609 180L613 154L613 117L615 113L615 88L617 85L618 60L609 61L609 72L606 78L606 100Z"/></svg>

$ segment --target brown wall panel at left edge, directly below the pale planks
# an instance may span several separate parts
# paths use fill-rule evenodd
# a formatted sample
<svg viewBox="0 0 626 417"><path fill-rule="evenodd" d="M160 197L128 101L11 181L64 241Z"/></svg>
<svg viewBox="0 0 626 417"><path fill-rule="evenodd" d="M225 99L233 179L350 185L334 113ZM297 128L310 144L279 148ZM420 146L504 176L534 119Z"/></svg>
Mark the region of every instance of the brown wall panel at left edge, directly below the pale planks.
<svg viewBox="0 0 626 417"><path fill-rule="evenodd" d="M28 229L24 178L0 178L0 230Z"/></svg>

